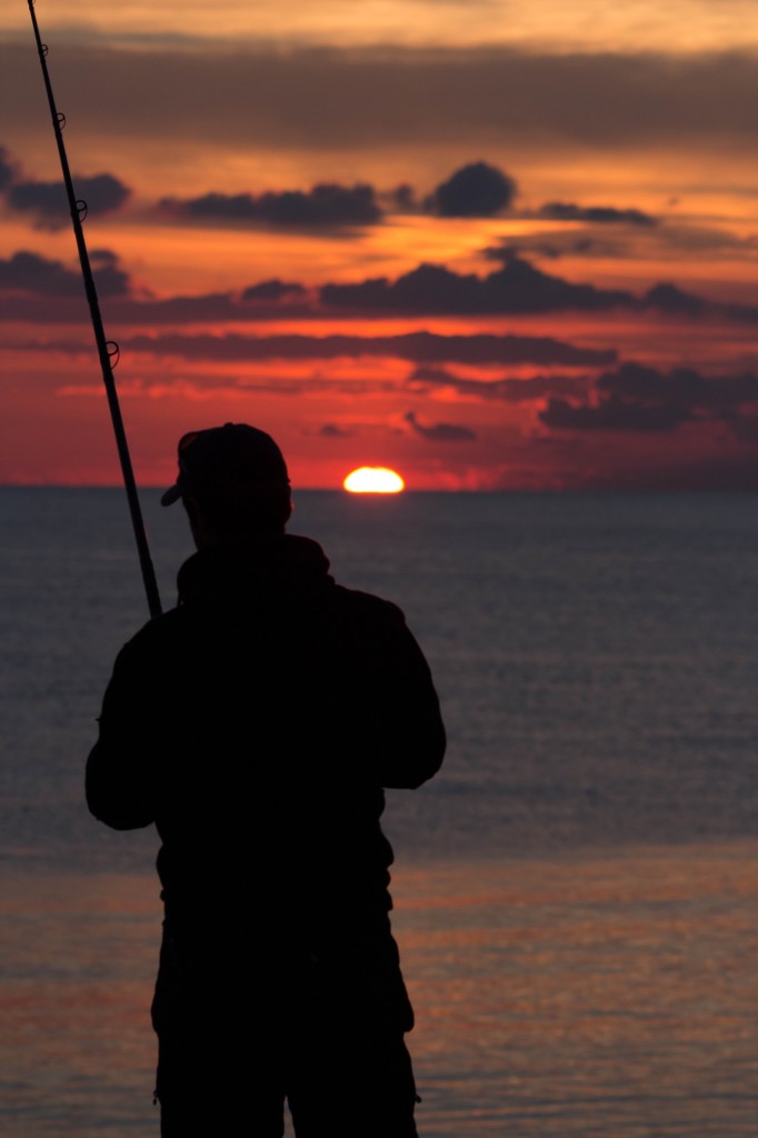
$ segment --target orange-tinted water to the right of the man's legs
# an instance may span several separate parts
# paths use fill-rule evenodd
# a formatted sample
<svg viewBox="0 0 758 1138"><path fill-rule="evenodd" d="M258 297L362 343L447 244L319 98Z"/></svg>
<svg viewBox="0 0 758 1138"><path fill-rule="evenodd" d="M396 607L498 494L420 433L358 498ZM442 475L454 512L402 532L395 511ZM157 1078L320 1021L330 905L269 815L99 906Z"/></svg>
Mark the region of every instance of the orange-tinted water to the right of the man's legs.
<svg viewBox="0 0 758 1138"><path fill-rule="evenodd" d="M401 876L423 1133L755 1135L755 855L741 843Z"/></svg>

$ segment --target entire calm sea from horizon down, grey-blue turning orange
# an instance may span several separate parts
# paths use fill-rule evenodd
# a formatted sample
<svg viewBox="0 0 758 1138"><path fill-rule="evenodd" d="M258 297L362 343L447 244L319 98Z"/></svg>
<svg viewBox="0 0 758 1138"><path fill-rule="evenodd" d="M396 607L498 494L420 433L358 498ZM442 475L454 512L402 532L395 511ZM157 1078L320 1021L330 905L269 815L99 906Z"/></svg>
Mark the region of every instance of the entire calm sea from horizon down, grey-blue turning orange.
<svg viewBox="0 0 758 1138"><path fill-rule="evenodd" d="M143 509L170 607L184 519ZM303 493L290 529L402 605L448 725L386 814L421 1138L756 1138L756 496ZM82 797L147 619L123 493L0 488L0 1131L157 1138L157 842Z"/></svg>

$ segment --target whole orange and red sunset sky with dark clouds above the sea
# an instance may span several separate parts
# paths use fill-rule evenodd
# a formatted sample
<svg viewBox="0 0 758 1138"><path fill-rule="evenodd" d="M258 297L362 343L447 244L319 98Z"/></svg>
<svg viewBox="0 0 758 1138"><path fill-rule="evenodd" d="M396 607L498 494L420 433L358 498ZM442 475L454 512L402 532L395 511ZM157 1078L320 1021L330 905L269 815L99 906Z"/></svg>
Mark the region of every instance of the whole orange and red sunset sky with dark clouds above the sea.
<svg viewBox="0 0 758 1138"><path fill-rule="evenodd" d="M758 488L755 0L38 0L138 483ZM0 481L115 444L28 7L0 14Z"/></svg>

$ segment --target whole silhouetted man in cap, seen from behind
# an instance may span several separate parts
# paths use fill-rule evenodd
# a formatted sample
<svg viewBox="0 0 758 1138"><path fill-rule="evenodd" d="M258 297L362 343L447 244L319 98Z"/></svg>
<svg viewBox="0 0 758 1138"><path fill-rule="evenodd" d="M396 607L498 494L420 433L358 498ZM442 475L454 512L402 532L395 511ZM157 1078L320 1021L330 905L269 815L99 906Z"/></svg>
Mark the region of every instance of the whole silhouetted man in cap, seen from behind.
<svg viewBox="0 0 758 1138"><path fill-rule="evenodd" d="M197 545L179 604L120 653L88 803L155 823L153 1004L164 1138L413 1138L413 1013L390 933L385 786L439 767L429 669L393 604L285 533L285 460L253 427L186 435Z"/></svg>

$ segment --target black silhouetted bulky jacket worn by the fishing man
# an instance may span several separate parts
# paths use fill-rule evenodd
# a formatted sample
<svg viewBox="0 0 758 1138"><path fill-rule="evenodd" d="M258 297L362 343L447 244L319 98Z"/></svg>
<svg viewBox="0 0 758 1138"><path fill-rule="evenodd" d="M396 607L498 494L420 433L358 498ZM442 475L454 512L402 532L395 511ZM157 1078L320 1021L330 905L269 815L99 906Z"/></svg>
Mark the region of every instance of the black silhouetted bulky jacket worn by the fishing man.
<svg viewBox="0 0 758 1138"><path fill-rule="evenodd" d="M242 909L274 954L386 921L384 787L419 786L445 749L402 612L290 535L204 549L178 584L116 659L91 813L155 823L166 918L196 940Z"/></svg>

